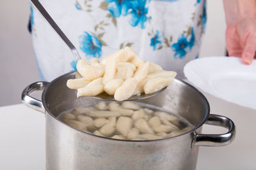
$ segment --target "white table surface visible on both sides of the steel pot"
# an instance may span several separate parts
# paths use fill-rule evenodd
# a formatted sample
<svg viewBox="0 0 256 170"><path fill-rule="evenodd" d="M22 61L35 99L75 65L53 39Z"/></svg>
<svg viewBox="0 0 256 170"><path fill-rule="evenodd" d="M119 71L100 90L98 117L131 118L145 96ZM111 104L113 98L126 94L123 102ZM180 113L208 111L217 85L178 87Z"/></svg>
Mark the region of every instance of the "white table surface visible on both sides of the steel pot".
<svg viewBox="0 0 256 170"><path fill-rule="evenodd" d="M227 146L200 146L198 170L256 169L256 110L205 94L211 113L231 118L236 139ZM255 101L256 102L256 101ZM226 129L204 125L205 133ZM24 104L0 108L0 169L45 169L45 118Z"/></svg>

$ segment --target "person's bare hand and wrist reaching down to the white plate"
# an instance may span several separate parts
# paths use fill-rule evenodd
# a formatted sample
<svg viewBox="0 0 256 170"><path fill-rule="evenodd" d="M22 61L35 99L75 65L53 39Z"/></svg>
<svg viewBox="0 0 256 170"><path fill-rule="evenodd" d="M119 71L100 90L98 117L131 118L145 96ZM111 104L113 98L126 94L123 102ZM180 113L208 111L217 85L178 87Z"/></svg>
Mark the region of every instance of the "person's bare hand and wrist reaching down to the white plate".
<svg viewBox="0 0 256 170"><path fill-rule="evenodd" d="M251 64L256 52L256 1L223 0L223 3L228 55L242 57L245 64Z"/></svg>

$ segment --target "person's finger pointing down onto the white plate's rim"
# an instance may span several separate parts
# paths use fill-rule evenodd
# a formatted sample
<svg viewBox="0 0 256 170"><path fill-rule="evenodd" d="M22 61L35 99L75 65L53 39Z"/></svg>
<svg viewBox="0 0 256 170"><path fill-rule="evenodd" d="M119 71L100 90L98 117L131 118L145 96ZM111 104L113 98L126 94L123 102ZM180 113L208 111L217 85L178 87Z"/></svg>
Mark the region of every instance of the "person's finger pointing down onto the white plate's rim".
<svg viewBox="0 0 256 170"><path fill-rule="evenodd" d="M256 52L256 35L249 34L245 41L244 50L242 53L242 60L244 64L252 64L253 57Z"/></svg>

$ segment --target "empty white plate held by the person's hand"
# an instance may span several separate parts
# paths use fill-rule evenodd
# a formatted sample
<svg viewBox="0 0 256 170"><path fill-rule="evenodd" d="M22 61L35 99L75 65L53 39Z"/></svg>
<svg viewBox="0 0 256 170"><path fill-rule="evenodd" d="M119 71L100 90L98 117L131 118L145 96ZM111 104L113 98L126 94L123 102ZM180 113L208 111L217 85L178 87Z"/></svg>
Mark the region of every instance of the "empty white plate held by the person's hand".
<svg viewBox="0 0 256 170"><path fill-rule="evenodd" d="M256 109L256 60L248 66L238 57L205 57L188 62L184 74L213 96Z"/></svg>

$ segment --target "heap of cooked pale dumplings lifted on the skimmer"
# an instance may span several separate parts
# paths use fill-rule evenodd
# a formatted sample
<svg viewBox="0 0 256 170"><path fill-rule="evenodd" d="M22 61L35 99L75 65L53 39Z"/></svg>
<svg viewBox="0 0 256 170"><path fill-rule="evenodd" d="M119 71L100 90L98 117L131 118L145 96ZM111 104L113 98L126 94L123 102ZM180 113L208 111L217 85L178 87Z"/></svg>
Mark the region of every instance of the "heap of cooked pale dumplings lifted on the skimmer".
<svg viewBox="0 0 256 170"><path fill-rule="evenodd" d="M177 74L141 60L129 46L104 57L100 62L96 58L89 63L79 60L76 67L82 78L68 80L67 87L77 89L77 97L106 92L116 101L157 92L170 85Z"/></svg>

